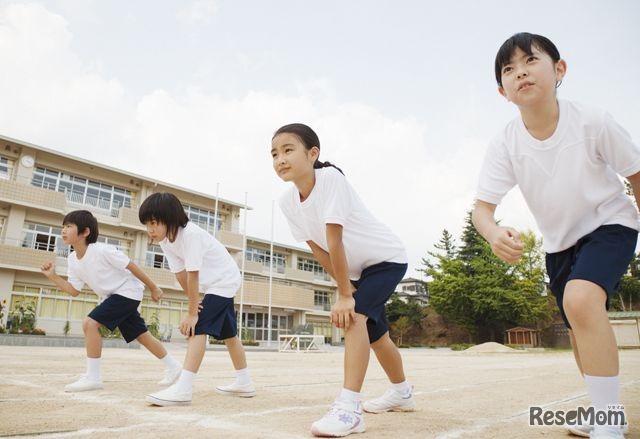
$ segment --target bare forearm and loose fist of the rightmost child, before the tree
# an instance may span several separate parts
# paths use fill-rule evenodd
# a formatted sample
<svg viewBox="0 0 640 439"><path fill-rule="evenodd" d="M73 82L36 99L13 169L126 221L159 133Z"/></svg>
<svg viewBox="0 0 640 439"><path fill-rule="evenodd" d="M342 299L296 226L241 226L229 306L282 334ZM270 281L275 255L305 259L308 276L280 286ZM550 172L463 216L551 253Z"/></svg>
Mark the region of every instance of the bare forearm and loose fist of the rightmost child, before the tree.
<svg viewBox="0 0 640 439"><path fill-rule="evenodd" d="M515 264L524 249L520 233L511 227L497 225L495 211L495 204L476 200L471 220L478 233L491 245L493 254L509 264Z"/></svg>

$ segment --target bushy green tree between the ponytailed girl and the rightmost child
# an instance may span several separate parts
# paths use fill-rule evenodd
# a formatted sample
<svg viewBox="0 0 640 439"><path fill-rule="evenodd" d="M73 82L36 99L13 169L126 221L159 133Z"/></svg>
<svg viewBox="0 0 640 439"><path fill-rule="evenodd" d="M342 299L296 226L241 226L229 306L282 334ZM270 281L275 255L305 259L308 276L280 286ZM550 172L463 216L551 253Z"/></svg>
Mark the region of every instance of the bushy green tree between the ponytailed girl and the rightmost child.
<svg viewBox="0 0 640 439"><path fill-rule="evenodd" d="M435 253L437 261L425 265L433 308L478 341L502 340L509 326L548 320L540 241L532 233L524 234L523 241L522 260L508 265L493 255L467 214L455 255Z"/></svg>

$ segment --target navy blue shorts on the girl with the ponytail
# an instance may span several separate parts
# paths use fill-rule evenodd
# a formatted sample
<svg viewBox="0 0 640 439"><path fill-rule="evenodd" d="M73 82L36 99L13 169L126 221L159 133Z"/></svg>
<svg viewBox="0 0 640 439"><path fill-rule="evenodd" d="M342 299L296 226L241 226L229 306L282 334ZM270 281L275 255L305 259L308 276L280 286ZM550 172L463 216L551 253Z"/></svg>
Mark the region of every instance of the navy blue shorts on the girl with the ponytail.
<svg viewBox="0 0 640 439"><path fill-rule="evenodd" d="M362 271L360 279L351 281L356 292L356 312L367 316L369 343L377 341L389 331L385 304L407 272L407 264L381 262Z"/></svg>

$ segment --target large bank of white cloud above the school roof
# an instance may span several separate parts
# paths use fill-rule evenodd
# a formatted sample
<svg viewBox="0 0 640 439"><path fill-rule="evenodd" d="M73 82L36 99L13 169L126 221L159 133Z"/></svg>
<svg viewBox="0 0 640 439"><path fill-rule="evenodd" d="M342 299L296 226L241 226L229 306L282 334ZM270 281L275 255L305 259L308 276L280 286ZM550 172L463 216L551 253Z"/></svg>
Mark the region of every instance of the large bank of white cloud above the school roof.
<svg viewBox="0 0 640 439"><path fill-rule="evenodd" d="M215 12L215 3L196 3L193 10ZM64 18L42 6L0 7L2 134L210 194L219 182L220 195L237 202L248 192L255 208L248 231L268 239L271 201L287 187L271 168L271 135L304 122L320 135L321 159L342 167L369 209L402 238L412 267L443 228L459 234L485 149L484 139L464 134L473 131L462 122L473 123L472 96L459 103L447 139L411 116L340 101L322 78L298 83L295 95L254 90L229 98L194 84L134 100L125 82L84 63L72 41ZM506 219L532 224L514 200ZM275 237L292 243L279 212Z"/></svg>

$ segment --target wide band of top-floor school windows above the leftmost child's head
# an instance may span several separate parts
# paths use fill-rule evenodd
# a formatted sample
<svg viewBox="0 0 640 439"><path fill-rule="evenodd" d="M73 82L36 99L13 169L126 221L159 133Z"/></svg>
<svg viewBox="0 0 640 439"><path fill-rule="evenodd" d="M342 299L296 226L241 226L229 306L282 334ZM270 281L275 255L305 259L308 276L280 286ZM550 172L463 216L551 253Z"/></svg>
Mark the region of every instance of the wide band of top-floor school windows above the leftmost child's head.
<svg viewBox="0 0 640 439"><path fill-rule="evenodd" d="M87 180L52 169L36 167L31 184L43 189L64 192L70 203L93 206L118 216L121 207L131 207L132 194L126 189Z"/></svg>

